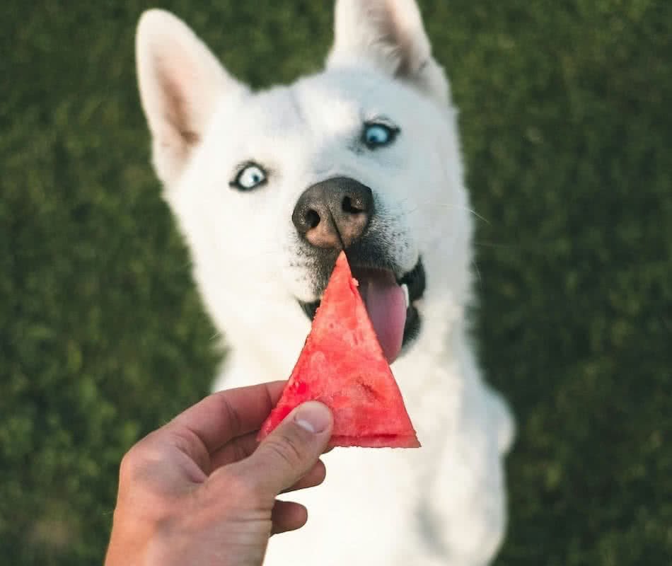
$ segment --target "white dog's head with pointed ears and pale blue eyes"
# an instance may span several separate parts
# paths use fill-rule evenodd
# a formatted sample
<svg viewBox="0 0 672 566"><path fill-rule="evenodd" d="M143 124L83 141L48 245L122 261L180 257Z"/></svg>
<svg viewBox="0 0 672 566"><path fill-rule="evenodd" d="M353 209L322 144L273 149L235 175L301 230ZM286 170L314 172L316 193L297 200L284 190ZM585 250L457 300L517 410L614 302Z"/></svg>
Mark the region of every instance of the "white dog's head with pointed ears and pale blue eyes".
<svg viewBox="0 0 672 566"><path fill-rule="evenodd" d="M307 321L342 249L390 361L431 289L465 292L455 117L415 1L337 1L325 70L291 86L251 92L163 11L142 16L137 63L153 163L221 326L273 301Z"/></svg>

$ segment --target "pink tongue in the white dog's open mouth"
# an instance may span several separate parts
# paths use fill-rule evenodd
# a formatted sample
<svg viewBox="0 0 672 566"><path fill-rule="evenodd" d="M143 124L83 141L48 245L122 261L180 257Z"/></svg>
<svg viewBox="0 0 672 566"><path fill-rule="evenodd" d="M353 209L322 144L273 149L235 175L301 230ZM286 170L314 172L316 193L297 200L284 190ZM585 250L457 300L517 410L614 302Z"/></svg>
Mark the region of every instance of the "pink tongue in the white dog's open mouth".
<svg viewBox="0 0 672 566"><path fill-rule="evenodd" d="M359 281L359 293L364 299L373 330L383 348L388 363L395 361L401 350L406 323L404 291L391 272L360 270L353 274Z"/></svg>

